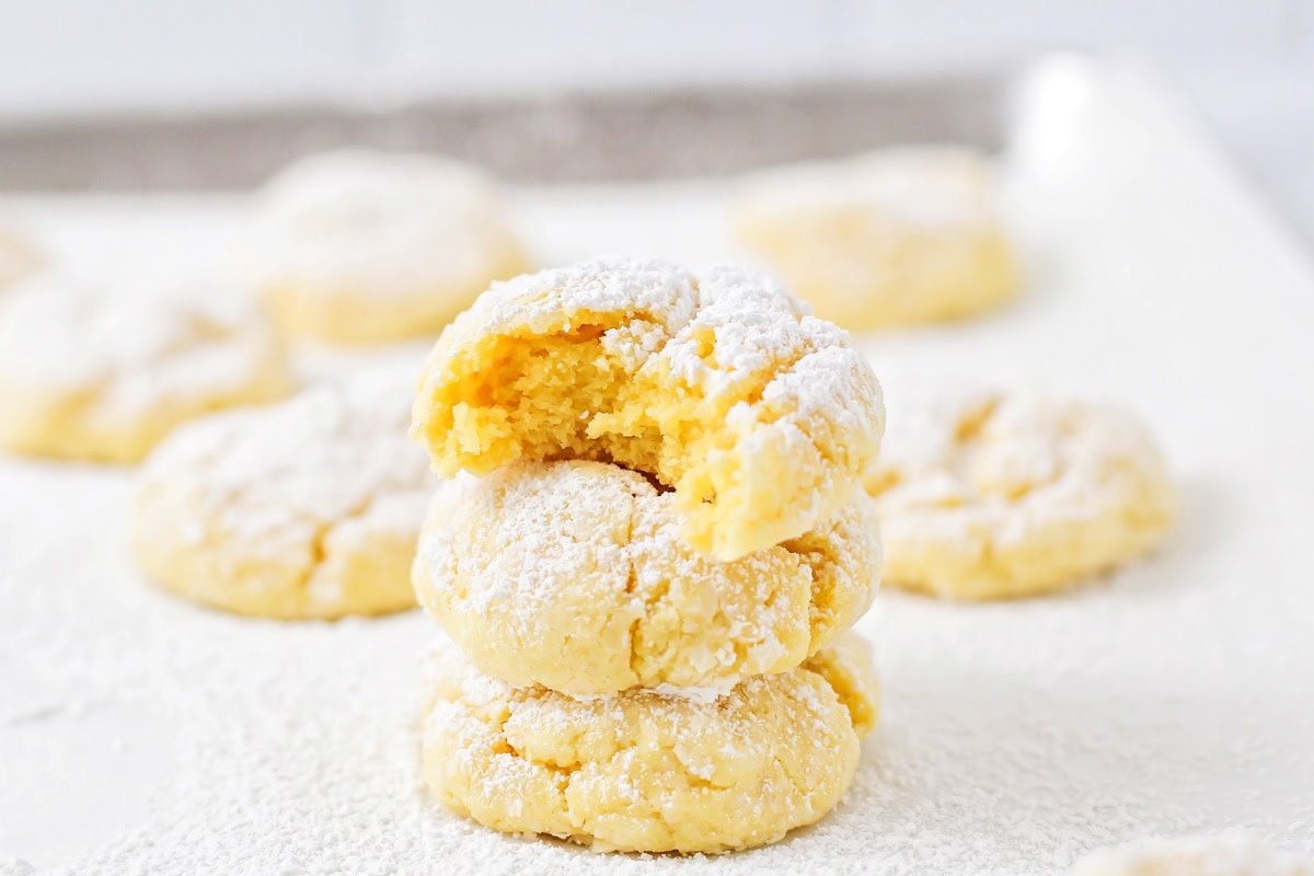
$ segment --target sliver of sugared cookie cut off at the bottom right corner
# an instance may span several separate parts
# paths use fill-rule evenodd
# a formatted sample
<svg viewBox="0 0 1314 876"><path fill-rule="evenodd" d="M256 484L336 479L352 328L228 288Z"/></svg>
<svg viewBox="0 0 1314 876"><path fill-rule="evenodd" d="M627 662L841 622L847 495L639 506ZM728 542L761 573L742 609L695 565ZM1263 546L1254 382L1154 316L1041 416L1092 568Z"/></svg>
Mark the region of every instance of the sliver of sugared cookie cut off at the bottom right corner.
<svg viewBox="0 0 1314 876"><path fill-rule="evenodd" d="M1314 876L1314 862L1244 833L1143 839L1097 851L1072 876Z"/></svg>

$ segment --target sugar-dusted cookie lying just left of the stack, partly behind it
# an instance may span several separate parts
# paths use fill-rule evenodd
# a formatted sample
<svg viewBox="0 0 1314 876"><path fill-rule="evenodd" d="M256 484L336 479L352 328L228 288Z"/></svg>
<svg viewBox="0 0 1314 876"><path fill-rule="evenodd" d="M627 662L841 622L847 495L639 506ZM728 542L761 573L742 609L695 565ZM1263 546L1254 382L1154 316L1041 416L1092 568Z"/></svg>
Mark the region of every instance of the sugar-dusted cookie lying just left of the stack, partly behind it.
<svg viewBox="0 0 1314 876"><path fill-rule="evenodd" d="M411 608L428 470L406 437L409 389L401 374L371 374L177 429L138 486L142 571L239 615Z"/></svg>

